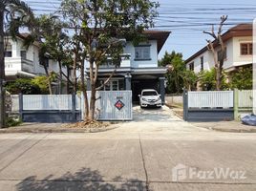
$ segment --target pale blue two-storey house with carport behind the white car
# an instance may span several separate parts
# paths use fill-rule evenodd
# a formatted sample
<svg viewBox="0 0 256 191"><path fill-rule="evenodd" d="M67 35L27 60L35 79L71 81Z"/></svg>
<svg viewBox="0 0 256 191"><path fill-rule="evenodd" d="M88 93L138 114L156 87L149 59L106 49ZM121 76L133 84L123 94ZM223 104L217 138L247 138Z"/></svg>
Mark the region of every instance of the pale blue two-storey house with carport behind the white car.
<svg viewBox="0 0 256 191"><path fill-rule="evenodd" d="M164 102L166 68L158 67L158 54L168 38L170 32L146 31L148 40L134 46L127 42L124 47L125 58L117 68L116 74L103 88L104 91L132 90L133 100L139 101L142 89L155 89L159 92ZM127 55L129 58L127 58ZM88 69L88 63L87 69ZM112 65L100 66L98 71L98 84L108 78L114 70ZM88 70L87 70L88 73ZM90 80L88 79L88 86Z"/></svg>

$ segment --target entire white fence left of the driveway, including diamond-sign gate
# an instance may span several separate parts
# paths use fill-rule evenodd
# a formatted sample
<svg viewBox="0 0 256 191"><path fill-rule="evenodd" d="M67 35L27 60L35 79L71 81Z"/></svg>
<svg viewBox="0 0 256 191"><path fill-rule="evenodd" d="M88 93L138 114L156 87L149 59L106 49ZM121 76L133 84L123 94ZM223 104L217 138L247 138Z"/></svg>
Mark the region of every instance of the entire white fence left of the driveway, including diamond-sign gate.
<svg viewBox="0 0 256 191"><path fill-rule="evenodd" d="M91 92L87 92L90 100ZM21 102L19 102L21 100ZM36 117L68 118L80 114L84 118L84 97L72 95L18 95L11 96L11 112L20 112L36 120ZM21 108L19 108L19 106ZM98 91L96 93L96 119L132 120L132 91ZM37 115L37 116L36 116Z"/></svg>

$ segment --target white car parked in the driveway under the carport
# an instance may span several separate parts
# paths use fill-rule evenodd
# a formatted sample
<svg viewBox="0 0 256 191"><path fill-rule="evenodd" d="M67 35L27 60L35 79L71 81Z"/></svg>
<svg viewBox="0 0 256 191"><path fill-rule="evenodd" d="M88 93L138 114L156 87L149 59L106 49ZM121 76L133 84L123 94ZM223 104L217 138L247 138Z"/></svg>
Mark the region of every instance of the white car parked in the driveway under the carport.
<svg viewBox="0 0 256 191"><path fill-rule="evenodd" d="M139 95L139 105L140 107L161 107L161 98L159 93L153 89L142 90L141 95Z"/></svg>

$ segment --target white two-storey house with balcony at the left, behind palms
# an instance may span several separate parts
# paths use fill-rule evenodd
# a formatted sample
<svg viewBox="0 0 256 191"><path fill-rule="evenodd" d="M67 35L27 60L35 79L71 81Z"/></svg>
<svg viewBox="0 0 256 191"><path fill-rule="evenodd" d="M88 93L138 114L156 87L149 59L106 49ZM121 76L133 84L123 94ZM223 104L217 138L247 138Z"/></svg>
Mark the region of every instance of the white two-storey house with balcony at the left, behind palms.
<svg viewBox="0 0 256 191"><path fill-rule="evenodd" d="M21 33L15 40L6 37L5 40L5 74L7 81L13 81L16 78L32 78L37 75L45 75L44 67L39 62L38 42L34 42L28 49L24 47L24 39L27 33ZM48 61L49 72L59 72L58 64L52 59ZM65 71L65 70L64 70ZM57 84L55 84L57 85ZM54 87L55 93L57 87Z"/></svg>

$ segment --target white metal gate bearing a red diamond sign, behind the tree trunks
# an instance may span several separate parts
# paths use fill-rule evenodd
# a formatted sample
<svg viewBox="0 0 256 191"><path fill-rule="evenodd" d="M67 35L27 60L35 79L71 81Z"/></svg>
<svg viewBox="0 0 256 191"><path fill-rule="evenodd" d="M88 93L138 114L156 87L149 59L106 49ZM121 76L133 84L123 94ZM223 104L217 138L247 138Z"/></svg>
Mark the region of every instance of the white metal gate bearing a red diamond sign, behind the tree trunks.
<svg viewBox="0 0 256 191"><path fill-rule="evenodd" d="M91 92L87 92L90 100ZM76 109L84 114L83 96L76 96ZM96 119L98 120L132 120L132 91L98 91L96 92Z"/></svg>

